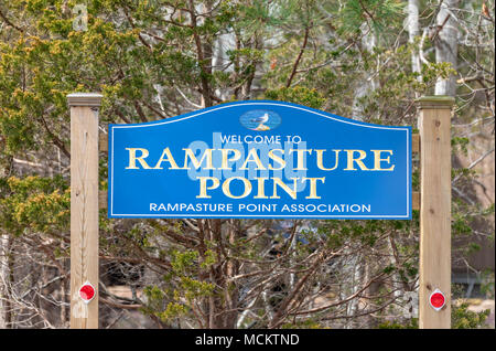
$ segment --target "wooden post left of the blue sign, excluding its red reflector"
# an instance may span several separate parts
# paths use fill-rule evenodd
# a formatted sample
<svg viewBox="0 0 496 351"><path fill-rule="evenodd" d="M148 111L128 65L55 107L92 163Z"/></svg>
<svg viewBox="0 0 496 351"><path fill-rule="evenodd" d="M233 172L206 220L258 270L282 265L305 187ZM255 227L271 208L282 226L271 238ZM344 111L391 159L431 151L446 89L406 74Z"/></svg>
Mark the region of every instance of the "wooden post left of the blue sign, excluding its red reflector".
<svg viewBox="0 0 496 351"><path fill-rule="evenodd" d="M71 107L71 328L98 328L98 107L101 95L67 95ZM95 298L78 290L89 281Z"/></svg>

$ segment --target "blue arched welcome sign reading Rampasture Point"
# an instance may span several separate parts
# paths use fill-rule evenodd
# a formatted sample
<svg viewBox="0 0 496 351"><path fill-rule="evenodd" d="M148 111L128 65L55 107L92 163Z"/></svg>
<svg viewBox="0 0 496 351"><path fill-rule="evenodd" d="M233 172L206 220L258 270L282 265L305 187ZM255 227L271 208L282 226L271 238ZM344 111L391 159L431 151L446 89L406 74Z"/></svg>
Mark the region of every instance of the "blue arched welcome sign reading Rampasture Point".
<svg viewBox="0 0 496 351"><path fill-rule="evenodd" d="M411 127L270 100L109 126L109 217L411 219Z"/></svg>

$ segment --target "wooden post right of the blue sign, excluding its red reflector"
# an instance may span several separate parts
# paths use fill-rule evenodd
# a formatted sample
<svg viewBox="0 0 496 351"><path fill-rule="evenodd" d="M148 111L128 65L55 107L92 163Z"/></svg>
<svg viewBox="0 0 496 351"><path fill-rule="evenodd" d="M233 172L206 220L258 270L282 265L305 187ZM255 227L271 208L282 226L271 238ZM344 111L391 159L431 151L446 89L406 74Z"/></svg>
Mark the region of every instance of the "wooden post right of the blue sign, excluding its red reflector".
<svg viewBox="0 0 496 351"><path fill-rule="evenodd" d="M451 96L428 96L420 106L419 327L451 328ZM444 307L429 298L439 289Z"/></svg>

